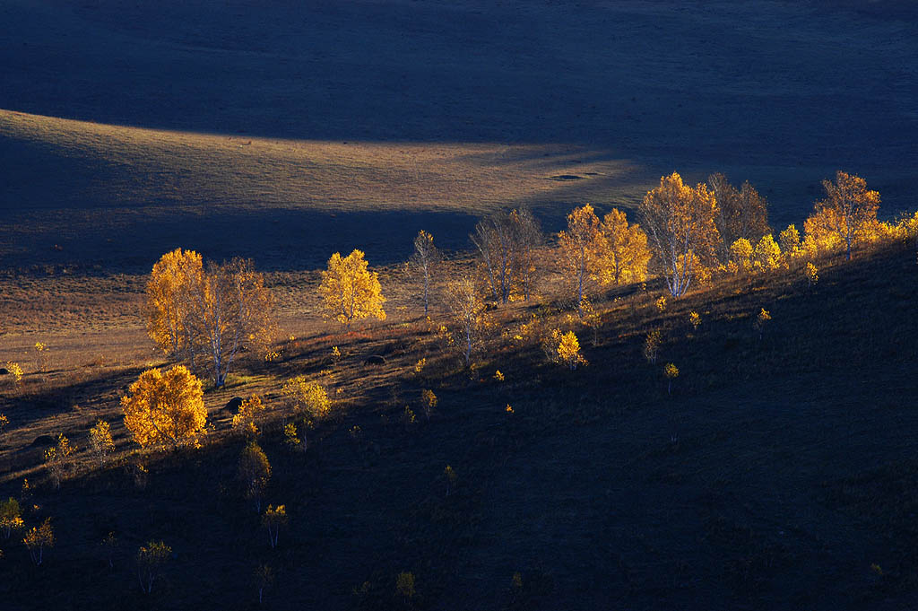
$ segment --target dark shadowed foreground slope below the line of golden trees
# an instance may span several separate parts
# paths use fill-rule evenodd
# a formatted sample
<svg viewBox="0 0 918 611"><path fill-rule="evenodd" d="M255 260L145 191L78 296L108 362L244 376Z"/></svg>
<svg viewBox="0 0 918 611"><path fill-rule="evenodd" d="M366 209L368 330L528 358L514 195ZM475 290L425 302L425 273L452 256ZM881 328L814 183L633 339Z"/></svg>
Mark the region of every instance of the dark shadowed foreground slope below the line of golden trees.
<svg viewBox="0 0 918 611"><path fill-rule="evenodd" d="M918 587L915 273L912 250L895 248L824 266L811 290L796 274L752 290L727 283L663 313L652 292L621 294L599 345L581 333L590 365L576 372L545 364L538 347L498 342L481 380L435 362L418 378L414 361L438 353L397 319L289 346L280 363L207 400L225 430L218 406L231 394L271 402L286 376L323 368L342 389L341 418L305 455L286 452L276 432L263 439L274 464L268 502L287 504L293 519L280 549L267 549L236 492L241 442L220 434L200 452L152 462L145 491L119 468L61 492L39 488L60 544L40 571L4 545L17 583L6 595L13 608L250 608L252 567L270 560L280 577L268 608L278 609L397 607L395 576L408 570L420 608L901 608ZM751 322L763 306L774 320L759 340ZM694 334L691 309L703 318ZM666 338L655 367L640 354L651 328ZM330 367L333 344L345 357ZM389 356L387 368L362 365L374 352ZM672 395L659 373L668 361L681 372ZM495 368L506 382L489 378ZM74 390L96 397L82 413L43 417L62 419L85 446L79 431L96 413L114 419L118 386L137 370L110 368L110 379ZM440 397L430 422L422 388ZM406 404L420 416L407 429ZM29 441L15 428L12 439ZM38 459L37 450L5 456L17 469ZM449 497L446 464L459 474ZM108 573L96 541L111 529L122 547ZM130 555L150 537L176 557L144 600ZM352 589L364 581L362 599Z"/></svg>

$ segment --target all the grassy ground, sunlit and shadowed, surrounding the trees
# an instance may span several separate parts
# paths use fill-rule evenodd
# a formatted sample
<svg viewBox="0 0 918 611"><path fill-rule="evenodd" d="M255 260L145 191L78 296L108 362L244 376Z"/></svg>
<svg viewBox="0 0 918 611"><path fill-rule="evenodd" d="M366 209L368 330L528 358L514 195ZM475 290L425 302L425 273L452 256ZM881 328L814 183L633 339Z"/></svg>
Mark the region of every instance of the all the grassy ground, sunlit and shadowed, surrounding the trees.
<svg viewBox="0 0 918 611"><path fill-rule="evenodd" d="M913 211L915 6L0 0L0 66L0 363L26 370L18 387L0 376L0 498L28 478L28 524L52 516L58 537L39 568L0 538L4 611L258 608L260 562L276 571L272 609L918 600L911 245L820 262L812 289L799 270L726 278L666 311L654 281L613 290L595 340L556 309L550 277L542 307L493 312L474 375L399 272L420 229L453 270L488 211L530 206L554 232L584 202L633 209L673 170L750 180L778 231L836 169L879 190L882 216ZM164 362L143 288L177 246L252 257L295 339L207 391L204 447L146 454L118 400ZM389 318L343 334L321 320L316 270L354 247L381 272ZM500 333L533 315L577 327L588 367ZM665 362L680 369L672 394ZM291 516L272 551L222 408L252 393L276 407L298 374L334 391L335 415L305 453L285 447L281 414L264 423L266 502ZM440 398L430 418L424 389ZM105 469L87 447L99 418L118 445ZM40 437L59 433L79 451L55 491ZM144 596L134 555L153 538L174 556ZM417 577L409 602L402 571Z"/></svg>

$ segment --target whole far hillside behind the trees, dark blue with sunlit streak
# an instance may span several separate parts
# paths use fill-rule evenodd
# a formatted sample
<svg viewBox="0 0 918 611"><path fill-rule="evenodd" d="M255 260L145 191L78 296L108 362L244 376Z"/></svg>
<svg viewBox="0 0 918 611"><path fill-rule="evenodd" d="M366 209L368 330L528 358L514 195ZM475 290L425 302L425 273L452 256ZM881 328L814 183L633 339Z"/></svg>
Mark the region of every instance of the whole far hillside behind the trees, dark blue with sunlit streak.
<svg viewBox="0 0 918 611"><path fill-rule="evenodd" d="M30 117L0 116L0 265L134 264L93 234L105 219L215 256L241 252L222 245L241 227L274 265L316 266L335 234L373 240L354 210L467 227L532 203L554 226L571 203L633 205L674 169L752 181L776 225L840 167L905 209L918 32L899 6L6 0L0 108ZM318 223L317 252L265 235L265 207ZM50 255L60 242L69 255Z"/></svg>

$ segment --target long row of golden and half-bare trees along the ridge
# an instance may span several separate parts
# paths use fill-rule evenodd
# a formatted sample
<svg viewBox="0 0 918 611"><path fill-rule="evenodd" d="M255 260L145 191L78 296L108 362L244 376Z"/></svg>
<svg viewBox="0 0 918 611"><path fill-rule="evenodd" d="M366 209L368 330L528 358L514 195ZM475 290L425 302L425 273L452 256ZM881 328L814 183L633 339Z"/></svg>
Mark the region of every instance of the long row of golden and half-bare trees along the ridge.
<svg viewBox="0 0 918 611"><path fill-rule="evenodd" d="M748 182L737 188L714 174L707 184L692 187L674 172L644 196L637 210L640 225L620 209L600 220L587 204L567 215L557 245L546 250L532 212L514 209L477 223L470 235L480 261L476 273L442 286L442 256L425 231L416 237L406 269L417 283L425 315L434 300L442 300L468 362L485 295L497 303L530 300L551 267L560 272L566 295L582 317L590 294L644 281L649 273L662 277L669 293L680 297L716 273L775 269L839 250L850 259L862 243L918 230L918 215L898 225L878 221L879 194L856 175L838 172L823 187L826 197L816 202L802 238L790 225L775 240L767 200ZM263 349L274 337L274 301L250 260L205 268L200 255L177 249L153 266L147 295L153 340L191 368L209 368L217 387L241 349ZM327 318L345 328L369 317L386 318L378 274L360 250L331 255L319 296Z"/></svg>

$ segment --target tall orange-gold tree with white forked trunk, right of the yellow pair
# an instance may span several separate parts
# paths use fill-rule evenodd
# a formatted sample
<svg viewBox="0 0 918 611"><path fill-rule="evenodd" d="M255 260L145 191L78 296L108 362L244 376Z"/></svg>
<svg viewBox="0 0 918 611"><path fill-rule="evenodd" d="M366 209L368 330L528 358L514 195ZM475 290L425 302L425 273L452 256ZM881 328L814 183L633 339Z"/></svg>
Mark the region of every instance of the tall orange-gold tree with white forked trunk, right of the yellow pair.
<svg viewBox="0 0 918 611"><path fill-rule="evenodd" d="M692 278L716 260L720 233L714 224L717 201L704 185L689 187L674 172L660 178L639 207L651 249L673 297L689 290Z"/></svg>

